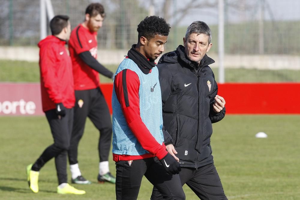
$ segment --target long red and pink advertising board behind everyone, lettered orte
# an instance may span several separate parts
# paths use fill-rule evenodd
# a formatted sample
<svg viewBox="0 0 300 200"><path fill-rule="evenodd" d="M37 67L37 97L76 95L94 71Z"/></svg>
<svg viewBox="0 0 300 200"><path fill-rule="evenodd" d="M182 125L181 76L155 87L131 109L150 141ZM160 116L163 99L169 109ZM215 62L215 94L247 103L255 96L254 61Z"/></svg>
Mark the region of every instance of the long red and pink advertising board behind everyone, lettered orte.
<svg viewBox="0 0 300 200"><path fill-rule="evenodd" d="M226 114L300 114L300 83L218 84ZM101 84L112 112L113 84ZM0 115L43 115L39 83L0 83Z"/></svg>

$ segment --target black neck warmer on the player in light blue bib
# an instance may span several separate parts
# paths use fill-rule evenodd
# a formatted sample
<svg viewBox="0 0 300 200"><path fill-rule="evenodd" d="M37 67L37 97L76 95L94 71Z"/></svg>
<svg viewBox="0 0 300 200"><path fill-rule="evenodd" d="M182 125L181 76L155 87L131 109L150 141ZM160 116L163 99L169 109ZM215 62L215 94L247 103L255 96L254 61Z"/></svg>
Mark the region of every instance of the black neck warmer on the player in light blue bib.
<svg viewBox="0 0 300 200"><path fill-rule="evenodd" d="M136 44L132 45L128 51L128 58L133 60L144 74L149 74L150 70L155 67L154 60L148 60L144 55L135 49Z"/></svg>

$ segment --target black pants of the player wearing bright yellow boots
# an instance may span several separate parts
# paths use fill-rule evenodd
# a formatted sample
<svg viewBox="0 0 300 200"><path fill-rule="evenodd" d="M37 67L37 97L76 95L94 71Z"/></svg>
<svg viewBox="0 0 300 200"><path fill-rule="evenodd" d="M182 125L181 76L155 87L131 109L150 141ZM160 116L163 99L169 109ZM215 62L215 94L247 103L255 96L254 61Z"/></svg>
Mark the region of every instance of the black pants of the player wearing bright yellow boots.
<svg viewBox="0 0 300 200"><path fill-rule="evenodd" d="M56 115L55 109L45 112L54 143L44 150L32 166L32 170L40 171L45 163L55 157L58 184L67 183L67 150L73 127L73 111L73 109L66 109L66 115L61 119Z"/></svg>

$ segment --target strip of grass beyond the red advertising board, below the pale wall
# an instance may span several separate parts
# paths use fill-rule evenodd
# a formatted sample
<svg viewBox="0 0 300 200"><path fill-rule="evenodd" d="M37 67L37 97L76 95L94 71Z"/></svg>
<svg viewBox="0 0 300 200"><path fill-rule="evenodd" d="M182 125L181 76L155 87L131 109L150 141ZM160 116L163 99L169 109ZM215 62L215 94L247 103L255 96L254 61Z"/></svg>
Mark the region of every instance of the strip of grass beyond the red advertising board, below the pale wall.
<svg viewBox="0 0 300 200"><path fill-rule="evenodd" d="M118 65L105 65L116 72ZM218 69L213 68L216 80ZM112 83L110 78L100 75L101 83ZM37 62L0 60L0 82L39 82ZM225 69L225 82L300 82L300 70Z"/></svg>

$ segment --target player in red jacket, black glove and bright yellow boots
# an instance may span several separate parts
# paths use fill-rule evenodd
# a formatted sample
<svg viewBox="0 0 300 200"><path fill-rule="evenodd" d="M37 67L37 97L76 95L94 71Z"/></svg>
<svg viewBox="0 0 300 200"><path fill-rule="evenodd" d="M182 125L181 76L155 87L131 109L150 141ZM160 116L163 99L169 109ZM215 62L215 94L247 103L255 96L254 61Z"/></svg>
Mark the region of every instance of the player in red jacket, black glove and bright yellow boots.
<svg viewBox="0 0 300 200"><path fill-rule="evenodd" d="M57 193L85 194L67 184L67 149L73 127L75 103L72 63L65 44L70 38L69 17L57 15L50 21L52 35L38 43L40 47L41 94L43 111L50 125L54 143L47 147L34 164L27 166L30 189L38 192L40 169L53 157L58 177Z"/></svg>

